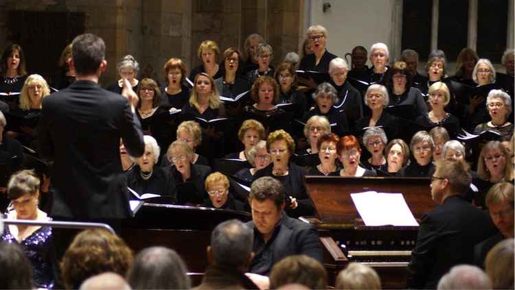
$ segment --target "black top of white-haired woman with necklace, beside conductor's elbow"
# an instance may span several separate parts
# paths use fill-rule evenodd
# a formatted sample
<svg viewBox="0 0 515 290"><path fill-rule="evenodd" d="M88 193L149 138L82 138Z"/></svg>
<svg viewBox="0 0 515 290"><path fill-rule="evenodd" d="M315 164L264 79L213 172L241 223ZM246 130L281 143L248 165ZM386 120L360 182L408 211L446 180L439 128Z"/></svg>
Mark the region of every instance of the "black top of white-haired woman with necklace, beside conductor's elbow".
<svg viewBox="0 0 515 290"><path fill-rule="evenodd" d="M127 186L139 193L139 195L153 193L170 197L170 202L176 202L177 189L170 171L159 166L154 166L152 170L150 178L144 180L141 177L139 165L135 165L133 169L125 173Z"/></svg>

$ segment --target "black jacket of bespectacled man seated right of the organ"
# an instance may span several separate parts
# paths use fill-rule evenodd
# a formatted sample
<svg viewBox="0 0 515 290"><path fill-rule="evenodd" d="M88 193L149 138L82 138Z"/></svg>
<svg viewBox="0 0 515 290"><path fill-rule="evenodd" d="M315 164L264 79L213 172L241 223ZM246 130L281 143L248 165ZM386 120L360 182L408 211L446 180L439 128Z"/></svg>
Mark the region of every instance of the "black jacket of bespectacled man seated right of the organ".
<svg viewBox="0 0 515 290"><path fill-rule="evenodd" d="M408 266L408 287L433 288L455 265L472 264L474 246L496 228L488 213L458 195L422 217Z"/></svg>

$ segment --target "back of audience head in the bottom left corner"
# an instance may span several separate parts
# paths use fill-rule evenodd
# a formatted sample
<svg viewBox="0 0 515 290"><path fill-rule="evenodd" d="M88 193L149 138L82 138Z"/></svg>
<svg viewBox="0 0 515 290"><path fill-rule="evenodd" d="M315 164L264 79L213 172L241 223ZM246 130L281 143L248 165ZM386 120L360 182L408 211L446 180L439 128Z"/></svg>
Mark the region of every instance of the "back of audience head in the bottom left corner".
<svg viewBox="0 0 515 290"><path fill-rule="evenodd" d="M20 247L0 243L0 289L32 289L32 264Z"/></svg>

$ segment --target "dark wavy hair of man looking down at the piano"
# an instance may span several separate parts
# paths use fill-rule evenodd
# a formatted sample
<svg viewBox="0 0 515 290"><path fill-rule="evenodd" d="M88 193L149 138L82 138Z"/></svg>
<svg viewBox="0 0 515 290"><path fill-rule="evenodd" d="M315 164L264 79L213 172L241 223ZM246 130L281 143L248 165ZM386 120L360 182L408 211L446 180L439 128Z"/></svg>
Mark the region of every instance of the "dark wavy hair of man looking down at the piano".
<svg viewBox="0 0 515 290"><path fill-rule="evenodd" d="M251 200L257 200L258 202L272 200L275 206L280 209L284 204L285 191L284 186L279 180L264 176L252 182L249 202Z"/></svg>

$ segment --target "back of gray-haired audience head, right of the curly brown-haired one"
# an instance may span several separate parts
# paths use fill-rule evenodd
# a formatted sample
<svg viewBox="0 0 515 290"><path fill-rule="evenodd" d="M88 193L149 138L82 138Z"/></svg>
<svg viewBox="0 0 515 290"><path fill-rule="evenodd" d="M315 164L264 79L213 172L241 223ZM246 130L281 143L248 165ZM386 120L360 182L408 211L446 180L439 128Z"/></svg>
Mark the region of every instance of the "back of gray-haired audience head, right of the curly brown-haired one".
<svg viewBox="0 0 515 290"><path fill-rule="evenodd" d="M147 247L137 254L127 273L133 289L189 289L190 279L181 257L166 247Z"/></svg>

